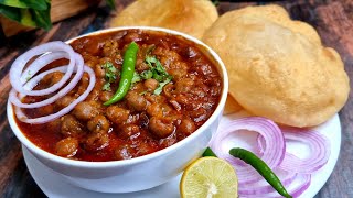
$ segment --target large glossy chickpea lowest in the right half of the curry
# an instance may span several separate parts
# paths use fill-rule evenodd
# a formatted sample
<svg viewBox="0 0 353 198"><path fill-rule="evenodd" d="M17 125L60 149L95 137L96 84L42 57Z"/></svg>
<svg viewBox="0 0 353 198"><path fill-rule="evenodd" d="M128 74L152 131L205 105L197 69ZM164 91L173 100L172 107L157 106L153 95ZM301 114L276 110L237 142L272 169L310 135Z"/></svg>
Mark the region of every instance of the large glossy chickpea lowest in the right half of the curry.
<svg viewBox="0 0 353 198"><path fill-rule="evenodd" d="M148 124L149 130L158 138L167 138L174 132L174 124L163 118L152 117Z"/></svg>

